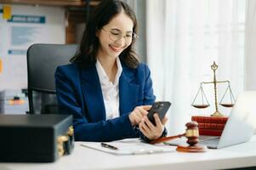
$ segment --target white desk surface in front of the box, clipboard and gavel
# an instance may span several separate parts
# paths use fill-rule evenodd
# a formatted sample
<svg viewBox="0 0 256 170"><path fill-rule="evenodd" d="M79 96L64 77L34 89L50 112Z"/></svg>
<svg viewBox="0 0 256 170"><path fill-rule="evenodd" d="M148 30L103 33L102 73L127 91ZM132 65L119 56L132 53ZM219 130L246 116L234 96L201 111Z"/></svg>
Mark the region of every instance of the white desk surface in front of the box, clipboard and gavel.
<svg viewBox="0 0 256 170"><path fill-rule="evenodd" d="M54 163L0 163L1 170L77 170L77 169L223 169L256 167L256 136L250 142L205 153L177 151L136 156L115 156L76 143L70 156ZM1 150L0 150L1 151Z"/></svg>

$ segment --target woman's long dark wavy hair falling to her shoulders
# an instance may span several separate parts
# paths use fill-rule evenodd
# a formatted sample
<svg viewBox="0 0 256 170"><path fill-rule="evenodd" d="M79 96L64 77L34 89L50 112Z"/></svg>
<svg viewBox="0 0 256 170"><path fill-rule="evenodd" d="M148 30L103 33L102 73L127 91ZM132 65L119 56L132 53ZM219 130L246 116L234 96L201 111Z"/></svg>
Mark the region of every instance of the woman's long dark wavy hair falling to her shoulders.
<svg viewBox="0 0 256 170"><path fill-rule="evenodd" d="M77 49L77 53L71 58L71 63L77 63L82 67L94 65L96 54L99 48L99 38L96 37L96 31L107 25L110 20L121 11L124 11L134 22L133 31L137 33L137 20L132 8L119 0L103 0L95 9L94 14L89 17L85 31L82 35L82 41ZM139 65L138 55L133 49L134 41L124 49L119 58L130 68L136 68Z"/></svg>

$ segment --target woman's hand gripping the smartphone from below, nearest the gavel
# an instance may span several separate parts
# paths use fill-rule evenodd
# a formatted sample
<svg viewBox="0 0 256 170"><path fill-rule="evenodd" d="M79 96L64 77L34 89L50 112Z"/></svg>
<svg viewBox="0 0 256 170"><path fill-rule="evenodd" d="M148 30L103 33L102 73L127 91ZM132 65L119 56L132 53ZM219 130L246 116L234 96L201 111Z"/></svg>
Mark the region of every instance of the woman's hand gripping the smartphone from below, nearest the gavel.
<svg viewBox="0 0 256 170"><path fill-rule="evenodd" d="M165 123L168 121L168 118L164 116L162 122L159 119L159 116L154 114L156 126L148 119L147 116L144 116L141 122L139 122L139 130L142 132L148 139L158 139L162 136Z"/></svg>

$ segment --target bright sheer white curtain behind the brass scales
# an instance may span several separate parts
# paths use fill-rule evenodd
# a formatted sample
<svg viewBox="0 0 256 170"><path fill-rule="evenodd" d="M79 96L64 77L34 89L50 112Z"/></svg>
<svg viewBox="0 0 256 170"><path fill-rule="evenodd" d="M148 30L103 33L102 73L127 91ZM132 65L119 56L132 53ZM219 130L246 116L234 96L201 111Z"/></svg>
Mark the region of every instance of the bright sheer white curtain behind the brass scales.
<svg viewBox="0 0 256 170"><path fill-rule="evenodd" d="M213 81L210 65L219 65L217 80L229 80L235 97L244 88L245 1L147 0L147 60L157 100L172 102L168 134L185 132L192 115L214 112L213 85L205 85L208 109L191 103L200 82ZM227 84L218 85L218 101ZM230 109L219 106L229 115Z"/></svg>

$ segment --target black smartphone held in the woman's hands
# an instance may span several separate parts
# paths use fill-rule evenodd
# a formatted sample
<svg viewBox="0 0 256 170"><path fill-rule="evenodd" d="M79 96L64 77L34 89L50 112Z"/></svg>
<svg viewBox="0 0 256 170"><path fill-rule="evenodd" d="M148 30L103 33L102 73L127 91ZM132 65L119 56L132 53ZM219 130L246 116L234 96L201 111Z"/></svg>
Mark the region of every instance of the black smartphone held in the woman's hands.
<svg viewBox="0 0 256 170"><path fill-rule="evenodd" d="M156 126L154 114L157 113L160 120L162 121L163 117L167 113L169 107L171 106L171 103L168 101L156 101L152 107L151 110L148 113L149 120Z"/></svg>

